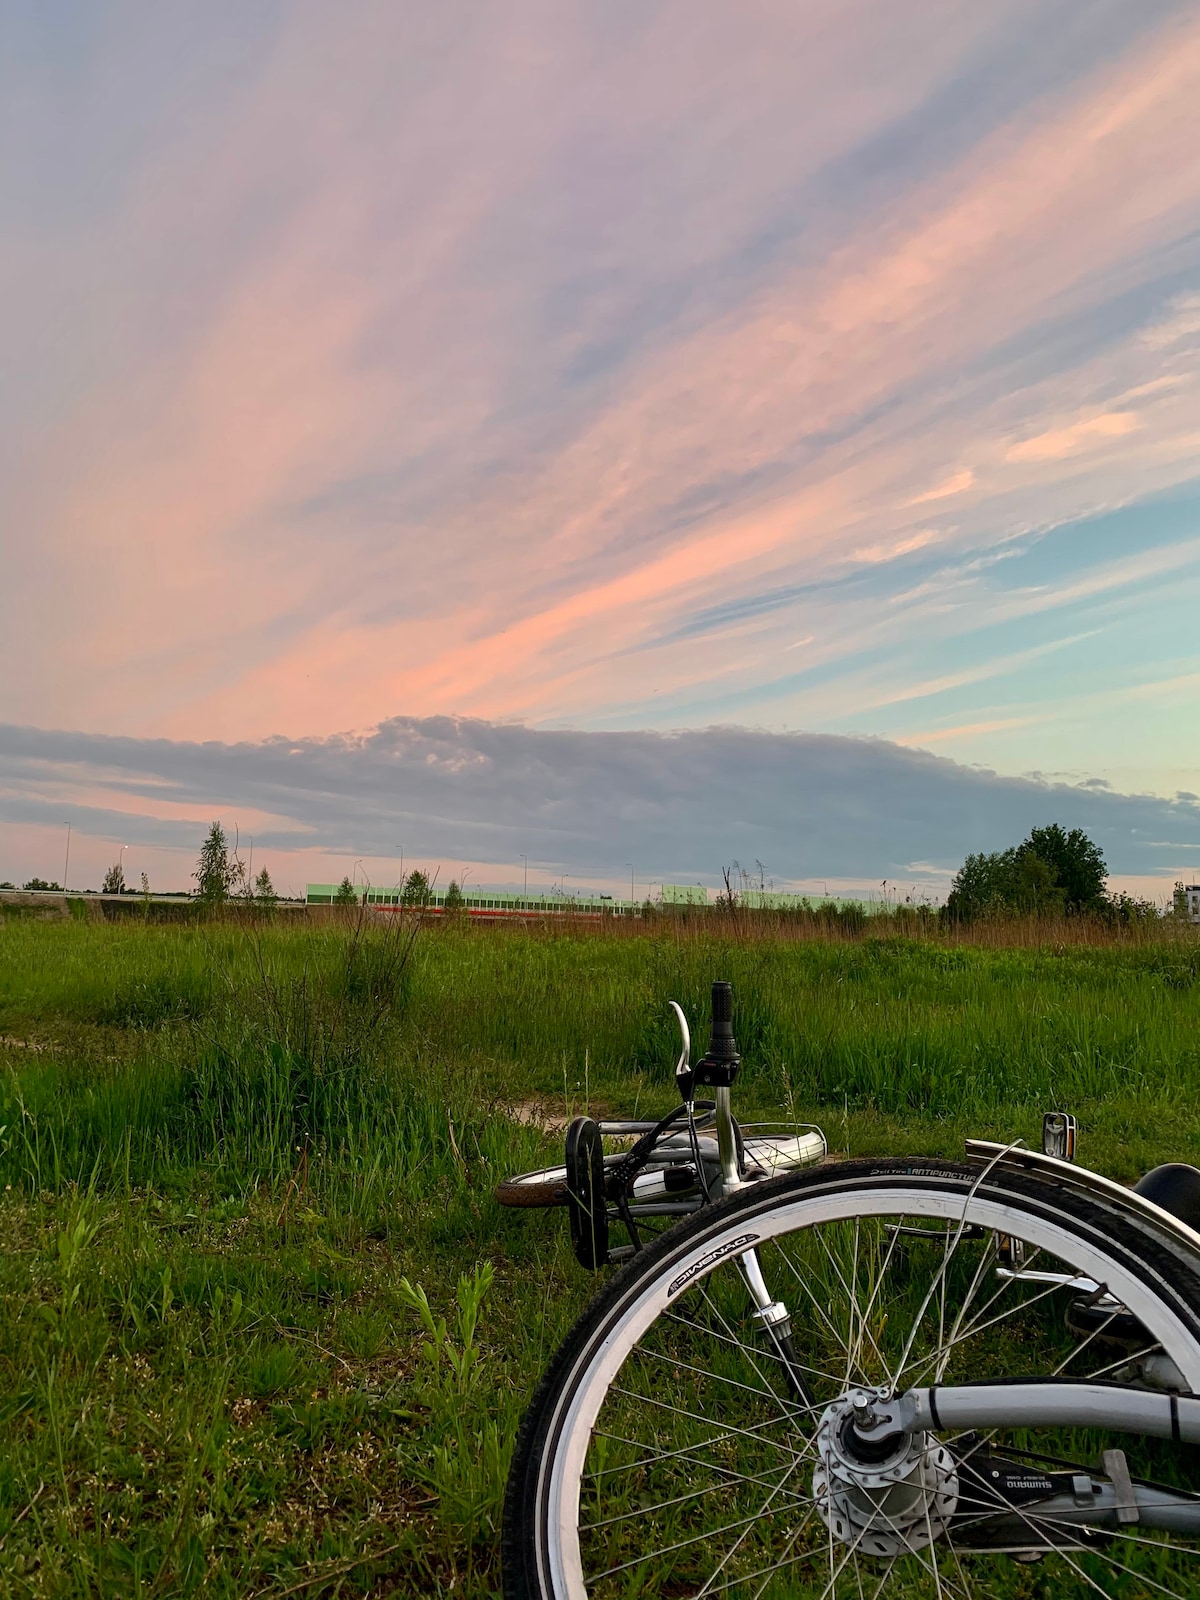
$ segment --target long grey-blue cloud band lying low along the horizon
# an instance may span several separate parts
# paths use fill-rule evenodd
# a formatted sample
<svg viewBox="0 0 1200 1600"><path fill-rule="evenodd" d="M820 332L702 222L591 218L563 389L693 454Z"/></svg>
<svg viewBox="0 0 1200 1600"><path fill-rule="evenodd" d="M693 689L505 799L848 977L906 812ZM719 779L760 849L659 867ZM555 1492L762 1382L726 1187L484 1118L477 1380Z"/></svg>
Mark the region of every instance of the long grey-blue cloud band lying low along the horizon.
<svg viewBox="0 0 1200 1600"><path fill-rule="evenodd" d="M190 744L0 725L0 818L72 821L144 843L194 843L200 814L267 813L261 846L512 862L587 872L630 854L664 878L731 858L778 878L955 867L1050 821L1086 829L1120 874L1200 850L1200 805L1090 784L1002 778L882 739L750 728L541 731L394 717L360 736ZM130 802L136 816L130 814ZM155 810L155 806L158 810Z"/></svg>

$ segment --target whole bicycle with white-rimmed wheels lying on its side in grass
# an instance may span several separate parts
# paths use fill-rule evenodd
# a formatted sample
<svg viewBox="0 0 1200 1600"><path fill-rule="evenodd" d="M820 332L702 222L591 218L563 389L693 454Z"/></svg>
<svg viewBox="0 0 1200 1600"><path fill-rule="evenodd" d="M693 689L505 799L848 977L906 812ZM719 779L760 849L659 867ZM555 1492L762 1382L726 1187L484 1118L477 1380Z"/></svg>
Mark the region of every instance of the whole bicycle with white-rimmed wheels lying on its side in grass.
<svg viewBox="0 0 1200 1600"><path fill-rule="evenodd" d="M826 1163L738 1126L728 984L694 1067L675 1010L680 1107L498 1190L622 1262L525 1418L509 1600L1200 1594L1200 1171L1123 1189L1062 1114Z"/></svg>

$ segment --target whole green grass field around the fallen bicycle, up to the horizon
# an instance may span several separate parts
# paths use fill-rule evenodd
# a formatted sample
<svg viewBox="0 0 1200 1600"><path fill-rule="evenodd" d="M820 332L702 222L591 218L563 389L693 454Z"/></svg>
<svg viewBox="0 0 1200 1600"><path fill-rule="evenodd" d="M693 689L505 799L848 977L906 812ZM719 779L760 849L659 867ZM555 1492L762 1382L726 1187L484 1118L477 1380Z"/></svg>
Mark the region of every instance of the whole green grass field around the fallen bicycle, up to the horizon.
<svg viewBox="0 0 1200 1600"><path fill-rule="evenodd" d="M880 923L878 926L886 926ZM0 925L0 1595L499 1589L523 1403L592 1280L515 1120L664 1110L730 978L742 1112L1200 1158L1195 930ZM702 1040L701 1040L702 1042Z"/></svg>

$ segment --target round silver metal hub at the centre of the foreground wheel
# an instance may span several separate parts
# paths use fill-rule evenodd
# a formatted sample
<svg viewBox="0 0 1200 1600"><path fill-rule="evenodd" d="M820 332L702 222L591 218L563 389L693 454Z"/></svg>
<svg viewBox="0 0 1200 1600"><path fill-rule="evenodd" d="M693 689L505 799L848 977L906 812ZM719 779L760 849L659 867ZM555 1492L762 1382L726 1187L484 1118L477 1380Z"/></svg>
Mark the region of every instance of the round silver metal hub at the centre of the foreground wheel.
<svg viewBox="0 0 1200 1600"><path fill-rule="evenodd" d="M851 1389L816 1432L813 1499L835 1539L864 1555L891 1557L931 1544L958 1504L954 1456L930 1434L862 1438L883 1389Z"/></svg>

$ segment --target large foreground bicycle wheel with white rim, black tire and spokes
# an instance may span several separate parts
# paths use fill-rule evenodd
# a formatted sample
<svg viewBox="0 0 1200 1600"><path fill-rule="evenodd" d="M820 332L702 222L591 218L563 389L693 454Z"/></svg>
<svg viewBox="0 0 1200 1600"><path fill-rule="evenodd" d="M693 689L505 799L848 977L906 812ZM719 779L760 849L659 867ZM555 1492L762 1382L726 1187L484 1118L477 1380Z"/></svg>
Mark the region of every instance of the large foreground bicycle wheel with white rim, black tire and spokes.
<svg viewBox="0 0 1200 1600"><path fill-rule="evenodd" d="M1034 1592L1027 1562L1053 1597L1200 1592L1200 1478L1170 1438L1042 1427L1026 1405L1019 1429L848 1454L872 1395L1050 1378L1200 1390L1200 1259L1003 1166L750 1186L637 1256L555 1358L509 1478L506 1595L962 1600Z"/></svg>

